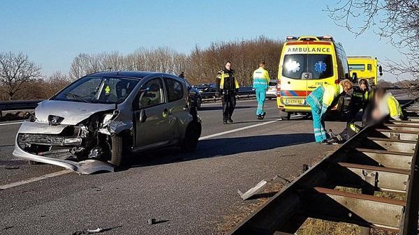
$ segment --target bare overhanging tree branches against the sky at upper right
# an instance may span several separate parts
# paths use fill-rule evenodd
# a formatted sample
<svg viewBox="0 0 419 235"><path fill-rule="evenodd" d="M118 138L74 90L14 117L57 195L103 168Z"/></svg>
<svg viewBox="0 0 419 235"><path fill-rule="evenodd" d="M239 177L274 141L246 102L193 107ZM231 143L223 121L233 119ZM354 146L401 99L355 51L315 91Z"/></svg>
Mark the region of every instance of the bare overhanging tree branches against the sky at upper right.
<svg viewBox="0 0 419 235"><path fill-rule="evenodd" d="M355 36L373 29L399 48L405 60L388 60L388 72L419 78L419 0L340 0L326 10Z"/></svg>

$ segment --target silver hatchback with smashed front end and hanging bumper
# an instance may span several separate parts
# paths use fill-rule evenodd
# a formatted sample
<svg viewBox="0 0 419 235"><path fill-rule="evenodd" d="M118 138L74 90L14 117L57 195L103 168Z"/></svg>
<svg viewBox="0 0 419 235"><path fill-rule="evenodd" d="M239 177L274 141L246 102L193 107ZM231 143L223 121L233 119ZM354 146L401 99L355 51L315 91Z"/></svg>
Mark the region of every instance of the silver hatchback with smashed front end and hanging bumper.
<svg viewBox="0 0 419 235"><path fill-rule="evenodd" d="M112 171L131 152L177 145L194 151L200 118L174 75L101 72L50 100L17 133L13 156L90 174Z"/></svg>

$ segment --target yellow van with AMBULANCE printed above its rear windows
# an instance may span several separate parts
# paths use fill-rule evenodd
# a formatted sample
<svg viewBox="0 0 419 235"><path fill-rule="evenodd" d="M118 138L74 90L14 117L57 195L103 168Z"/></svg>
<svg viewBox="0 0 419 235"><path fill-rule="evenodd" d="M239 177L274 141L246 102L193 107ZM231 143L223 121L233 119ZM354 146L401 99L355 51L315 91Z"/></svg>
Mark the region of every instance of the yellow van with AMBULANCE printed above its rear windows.
<svg viewBox="0 0 419 235"><path fill-rule="evenodd" d="M287 113L285 119L311 112L305 100L311 91L345 78L349 78L346 54L332 36L288 36L279 61L277 105Z"/></svg>

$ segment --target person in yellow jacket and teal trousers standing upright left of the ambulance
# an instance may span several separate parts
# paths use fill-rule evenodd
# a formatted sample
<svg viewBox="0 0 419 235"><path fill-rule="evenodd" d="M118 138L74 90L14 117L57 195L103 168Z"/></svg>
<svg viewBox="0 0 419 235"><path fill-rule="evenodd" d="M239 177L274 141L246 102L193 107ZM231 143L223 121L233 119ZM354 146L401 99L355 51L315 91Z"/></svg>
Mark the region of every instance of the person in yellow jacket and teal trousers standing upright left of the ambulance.
<svg viewBox="0 0 419 235"><path fill-rule="evenodd" d="M253 72L253 89L256 91L256 100L258 100L258 108L256 109L256 116L258 119L264 119L266 112L263 111L265 104L266 91L269 88L269 72L265 70L266 63L262 61L259 63L259 68Z"/></svg>

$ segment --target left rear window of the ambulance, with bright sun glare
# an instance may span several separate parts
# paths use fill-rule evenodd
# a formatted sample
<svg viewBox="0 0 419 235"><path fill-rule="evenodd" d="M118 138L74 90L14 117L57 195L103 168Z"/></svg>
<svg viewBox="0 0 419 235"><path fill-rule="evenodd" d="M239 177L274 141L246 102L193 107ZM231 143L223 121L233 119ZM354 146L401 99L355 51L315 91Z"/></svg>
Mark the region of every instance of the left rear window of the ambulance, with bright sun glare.
<svg viewBox="0 0 419 235"><path fill-rule="evenodd" d="M282 76L293 79L301 79L305 72L307 54L286 54L282 66Z"/></svg>

